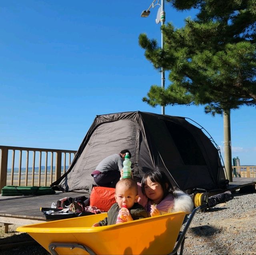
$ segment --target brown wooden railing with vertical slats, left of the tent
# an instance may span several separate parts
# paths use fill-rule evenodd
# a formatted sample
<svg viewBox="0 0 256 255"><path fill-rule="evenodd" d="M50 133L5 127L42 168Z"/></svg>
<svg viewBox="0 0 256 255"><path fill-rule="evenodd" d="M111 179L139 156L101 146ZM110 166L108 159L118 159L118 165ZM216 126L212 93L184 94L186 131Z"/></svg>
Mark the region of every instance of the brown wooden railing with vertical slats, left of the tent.
<svg viewBox="0 0 256 255"><path fill-rule="evenodd" d="M6 185L49 186L66 172L75 154L75 150L0 145L0 191Z"/></svg>

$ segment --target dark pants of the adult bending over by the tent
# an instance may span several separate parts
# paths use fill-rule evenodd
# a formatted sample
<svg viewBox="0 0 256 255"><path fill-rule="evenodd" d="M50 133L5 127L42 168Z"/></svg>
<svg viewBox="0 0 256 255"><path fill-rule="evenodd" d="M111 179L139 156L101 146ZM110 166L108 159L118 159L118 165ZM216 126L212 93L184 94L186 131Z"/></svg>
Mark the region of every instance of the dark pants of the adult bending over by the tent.
<svg viewBox="0 0 256 255"><path fill-rule="evenodd" d="M120 172L113 170L94 176L94 182L101 187L115 188L120 177Z"/></svg>

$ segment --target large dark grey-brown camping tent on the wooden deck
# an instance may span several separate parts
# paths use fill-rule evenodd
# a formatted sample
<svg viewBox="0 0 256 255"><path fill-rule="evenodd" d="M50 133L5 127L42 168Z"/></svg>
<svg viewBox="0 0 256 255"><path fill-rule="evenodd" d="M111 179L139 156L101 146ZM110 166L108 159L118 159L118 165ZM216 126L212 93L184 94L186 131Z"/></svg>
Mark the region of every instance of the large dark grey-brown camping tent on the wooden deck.
<svg viewBox="0 0 256 255"><path fill-rule="evenodd" d="M184 117L136 111L97 115L66 173L51 186L90 192L97 164L123 149L130 150L138 178L159 166L174 186L188 193L194 188L218 190L227 181L220 151L202 128Z"/></svg>

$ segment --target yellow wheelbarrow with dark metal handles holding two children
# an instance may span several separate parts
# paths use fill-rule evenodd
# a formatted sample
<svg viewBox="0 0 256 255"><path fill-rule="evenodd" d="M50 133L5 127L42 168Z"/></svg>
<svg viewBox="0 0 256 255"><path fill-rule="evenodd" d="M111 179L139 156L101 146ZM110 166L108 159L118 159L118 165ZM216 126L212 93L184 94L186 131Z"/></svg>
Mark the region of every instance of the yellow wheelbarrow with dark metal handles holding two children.
<svg viewBox="0 0 256 255"><path fill-rule="evenodd" d="M53 255L66 254L180 254L193 210L180 233L184 212L168 213L117 225L92 227L107 213L48 221L18 227ZM179 238L178 238L179 236ZM178 241L177 241L178 239ZM176 244L176 246L175 246ZM175 246L175 247L174 247Z"/></svg>

